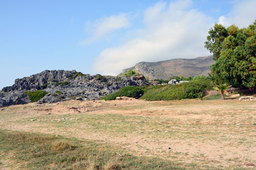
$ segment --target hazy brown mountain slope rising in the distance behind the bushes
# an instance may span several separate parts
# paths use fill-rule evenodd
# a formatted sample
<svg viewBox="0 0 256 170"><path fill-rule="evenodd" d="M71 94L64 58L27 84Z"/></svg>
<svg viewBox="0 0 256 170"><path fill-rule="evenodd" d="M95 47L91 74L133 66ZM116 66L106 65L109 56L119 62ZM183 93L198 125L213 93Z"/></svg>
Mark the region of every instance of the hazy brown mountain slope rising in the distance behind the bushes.
<svg viewBox="0 0 256 170"><path fill-rule="evenodd" d="M213 63L215 63L215 61L212 59L212 55L194 59L172 59L155 63L140 62L134 67L124 69L122 73L132 69L139 71L145 77L148 76L150 80L156 78L168 79L180 74L184 77L208 76L208 73L210 73L210 65Z"/></svg>

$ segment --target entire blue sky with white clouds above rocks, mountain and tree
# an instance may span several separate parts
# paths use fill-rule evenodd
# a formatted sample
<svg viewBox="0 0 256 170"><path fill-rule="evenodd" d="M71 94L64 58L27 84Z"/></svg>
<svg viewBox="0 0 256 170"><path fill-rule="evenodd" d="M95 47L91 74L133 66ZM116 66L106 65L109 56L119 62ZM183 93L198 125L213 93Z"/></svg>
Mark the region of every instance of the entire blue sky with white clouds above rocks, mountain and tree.
<svg viewBox="0 0 256 170"><path fill-rule="evenodd" d="M215 23L242 28L256 0L0 0L0 89L44 70L113 75L139 62L211 55Z"/></svg>

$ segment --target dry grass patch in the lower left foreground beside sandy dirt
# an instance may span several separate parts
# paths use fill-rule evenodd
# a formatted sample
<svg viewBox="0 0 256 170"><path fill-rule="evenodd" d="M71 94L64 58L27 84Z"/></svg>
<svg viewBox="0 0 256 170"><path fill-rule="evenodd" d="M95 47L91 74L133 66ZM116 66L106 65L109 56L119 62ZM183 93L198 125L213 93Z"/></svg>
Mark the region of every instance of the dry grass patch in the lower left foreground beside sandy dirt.
<svg viewBox="0 0 256 170"><path fill-rule="evenodd" d="M132 156L97 141L38 133L0 130L0 151L3 153L1 160L12 159L14 164L17 163L17 169L199 169L196 164L185 165L156 157ZM8 166L8 163L1 165Z"/></svg>

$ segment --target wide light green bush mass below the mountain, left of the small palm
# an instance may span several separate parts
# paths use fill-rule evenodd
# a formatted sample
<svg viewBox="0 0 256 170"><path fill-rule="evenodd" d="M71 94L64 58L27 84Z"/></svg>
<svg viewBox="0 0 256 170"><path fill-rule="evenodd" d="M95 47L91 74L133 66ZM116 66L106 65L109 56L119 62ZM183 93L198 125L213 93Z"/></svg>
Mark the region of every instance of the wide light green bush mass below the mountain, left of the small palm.
<svg viewBox="0 0 256 170"><path fill-rule="evenodd" d="M212 89L211 81L190 81L179 85L156 85L143 89L144 95L140 99L156 100L181 100L194 99L196 93Z"/></svg>

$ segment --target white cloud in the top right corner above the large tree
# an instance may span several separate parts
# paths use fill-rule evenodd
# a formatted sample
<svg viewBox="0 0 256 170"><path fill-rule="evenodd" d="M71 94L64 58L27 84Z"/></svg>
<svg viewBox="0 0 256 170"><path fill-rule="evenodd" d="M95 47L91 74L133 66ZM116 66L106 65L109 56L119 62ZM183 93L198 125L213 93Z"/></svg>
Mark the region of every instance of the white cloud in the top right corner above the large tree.
<svg viewBox="0 0 256 170"><path fill-rule="evenodd" d="M255 21L255 7L255 0L235 1L233 10L226 16L220 16L219 23L223 26L236 24L238 27L248 27Z"/></svg>

